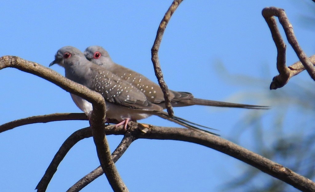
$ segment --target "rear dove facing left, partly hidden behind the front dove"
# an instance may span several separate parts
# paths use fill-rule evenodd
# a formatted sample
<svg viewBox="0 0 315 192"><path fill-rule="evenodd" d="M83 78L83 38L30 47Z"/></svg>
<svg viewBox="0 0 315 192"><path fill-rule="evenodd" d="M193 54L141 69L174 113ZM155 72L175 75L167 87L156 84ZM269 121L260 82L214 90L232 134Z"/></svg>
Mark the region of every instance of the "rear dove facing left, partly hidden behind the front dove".
<svg viewBox="0 0 315 192"><path fill-rule="evenodd" d="M114 63L108 52L100 46L90 46L84 51L85 57L104 69L116 74L119 78L127 81L131 85L138 88L147 98L148 101L160 105L165 108L163 92L159 85L152 82L144 75L137 73L131 69ZM222 101L213 101L206 99L194 98L191 93L169 90L170 99L173 107L184 107L191 105L204 105L216 107L238 107L249 109L266 109L266 106L247 105L238 103L229 103Z"/></svg>

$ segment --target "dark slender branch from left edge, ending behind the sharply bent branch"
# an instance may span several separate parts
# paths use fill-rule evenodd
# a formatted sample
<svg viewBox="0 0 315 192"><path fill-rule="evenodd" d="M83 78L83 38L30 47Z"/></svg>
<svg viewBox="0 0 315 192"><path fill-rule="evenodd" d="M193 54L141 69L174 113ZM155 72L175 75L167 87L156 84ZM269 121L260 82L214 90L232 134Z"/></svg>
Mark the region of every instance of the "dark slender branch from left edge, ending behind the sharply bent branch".
<svg viewBox="0 0 315 192"><path fill-rule="evenodd" d="M38 115L27 117L23 119L17 119L8 123L0 125L0 133L33 123L48 123L53 121L66 121L66 120L89 120L85 113L53 113L49 115Z"/></svg>

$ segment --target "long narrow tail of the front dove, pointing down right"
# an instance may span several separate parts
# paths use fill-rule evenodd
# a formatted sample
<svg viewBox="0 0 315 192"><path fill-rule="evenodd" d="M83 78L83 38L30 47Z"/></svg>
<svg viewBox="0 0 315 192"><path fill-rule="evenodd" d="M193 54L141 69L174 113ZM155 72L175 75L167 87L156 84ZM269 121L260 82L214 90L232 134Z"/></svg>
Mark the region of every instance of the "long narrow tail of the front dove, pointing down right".
<svg viewBox="0 0 315 192"><path fill-rule="evenodd" d="M197 130L198 132L201 132L201 133L204 133L204 132L207 132L209 134L214 134L214 135L218 135L220 136L219 134L215 134L213 132L210 132L210 131L207 131L207 130L204 130L204 129L201 129L199 127L203 127L203 128L207 128L207 129L213 129L213 128L210 128L210 127L206 127L206 126L203 126L203 125L200 125L200 124L197 124L197 123L193 123L191 121L188 121L186 119L183 119L183 118L180 118L180 117L176 117L176 116L173 116L173 117L169 117L169 115L164 112L164 111L161 111L161 112L156 112L154 113L155 115L159 116L160 118L163 118L163 119L166 119L166 120L169 120L169 121L172 121L174 123L177 123L179 125L182 125L188 129L193 129L193 130ZM217 130L217 129L213 129L213 130Z"/></svg>

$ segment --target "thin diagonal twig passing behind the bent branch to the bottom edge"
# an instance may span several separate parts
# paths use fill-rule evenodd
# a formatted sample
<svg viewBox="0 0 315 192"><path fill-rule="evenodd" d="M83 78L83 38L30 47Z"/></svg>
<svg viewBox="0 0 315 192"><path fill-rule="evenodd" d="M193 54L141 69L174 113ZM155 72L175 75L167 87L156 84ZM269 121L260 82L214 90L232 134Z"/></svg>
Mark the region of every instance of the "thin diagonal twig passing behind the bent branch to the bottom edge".
<svg viewBox="0 0 315 192"><path fill-rule="evenodd" d="M128 132L127 134L125 134L125 136L123 137L123 140L120 142L120 144L117 146L117 148L115 149L115 151L112 153L112 160L113 162L117 162L117 160L123 155L123 153L127 150L127 148L129 147L129 145L131 145L131 143L137 139L137 137L135 137L135 134L133 133L139 133L138 130L133 131L133 132ZM107 133L106 133L107 134ZM75 183L74 185L72 185L72 187L70 187L67 192L77 192L80 191L81 189L83 189L85 186L87 186L88 184L90 184L92 181L94 181L96 178L100 177L102 174L104 174L102 167L97 167L96 169L94 169L92 172L90 172L89 174L85 175L83 178L81 178L79 181L77 181L77 183Z"/></svg>

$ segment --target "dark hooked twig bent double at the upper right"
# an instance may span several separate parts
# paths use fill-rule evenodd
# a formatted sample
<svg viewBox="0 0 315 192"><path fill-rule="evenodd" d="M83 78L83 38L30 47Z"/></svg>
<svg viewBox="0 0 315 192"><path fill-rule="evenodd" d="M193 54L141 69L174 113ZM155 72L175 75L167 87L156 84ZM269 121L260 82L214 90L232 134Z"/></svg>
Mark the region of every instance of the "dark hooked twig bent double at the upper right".
<svg viewBox="0 0 315 192"><path fill-rule="evenodd" d="M283 87L288 83L289 79L298 74L295 70L290 69L286 66L285 61L285 53L286 53L286 45L280 35L278 30L277 22L273 16L277 16L280 24L282 25L286 37L303 64L304 68L307 70L308 74L311 76L313 80L315 80L315 68L310 58L307 58L306 54L303 52L299 43L294 35L293 27L289 22L288 17L285 12L281 8L276 7L267 7L262 10L262 15L265 18L269 29L272 34L272 39L276 44L278 55L277 55L277 69L279 75L275 76L272 79L272 83L270 85L270 89L277 89Z"/></svg>

